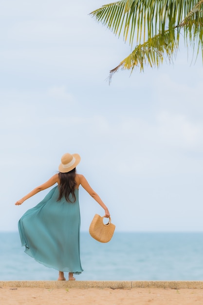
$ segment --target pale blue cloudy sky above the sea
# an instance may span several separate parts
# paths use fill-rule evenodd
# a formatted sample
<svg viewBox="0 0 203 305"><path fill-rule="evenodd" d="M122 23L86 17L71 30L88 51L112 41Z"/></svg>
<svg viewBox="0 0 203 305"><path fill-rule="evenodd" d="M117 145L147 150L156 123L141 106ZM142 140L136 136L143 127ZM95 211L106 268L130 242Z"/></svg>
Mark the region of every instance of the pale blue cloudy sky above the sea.
<svg viewBox="0 0 203 305"><path fill-rule="evenodd" d="M203 63L184 44L157 68L89 15L103 0L0 4L0 231L49 190L15 202L79 153L118 231L203 231ZM80 187L81 230L102 208Z"/></svg>

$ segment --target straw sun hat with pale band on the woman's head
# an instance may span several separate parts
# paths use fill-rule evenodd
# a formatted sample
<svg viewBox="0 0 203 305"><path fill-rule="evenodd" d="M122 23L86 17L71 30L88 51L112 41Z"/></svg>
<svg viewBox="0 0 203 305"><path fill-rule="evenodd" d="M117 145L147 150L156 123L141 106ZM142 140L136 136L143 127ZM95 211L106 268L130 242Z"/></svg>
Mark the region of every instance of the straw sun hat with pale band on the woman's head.
<svg viewBox="0 0 203 305"><path fill-rule="evenodd" d="M80 159L78 153L65 153L61 157L61 164L58 167L59 172L72 171L80 163Z"/></svg>

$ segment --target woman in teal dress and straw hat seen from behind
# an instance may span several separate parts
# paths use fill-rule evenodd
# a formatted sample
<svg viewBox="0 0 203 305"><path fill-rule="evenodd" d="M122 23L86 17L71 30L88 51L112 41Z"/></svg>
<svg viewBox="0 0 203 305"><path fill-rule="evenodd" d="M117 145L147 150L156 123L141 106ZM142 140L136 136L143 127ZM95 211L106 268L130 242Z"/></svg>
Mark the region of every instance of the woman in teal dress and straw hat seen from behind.
<svg viewBox="0 0 203 305"><path fill-rule="evenodd" d="M75 172L79 162L79 154L65 153L58 167L59 173L16 202L19 206L39 191L58 184L18 222L25 253L37 262L59 270L58 281L66 280L64 271L69 272L69 281L75 280L73 274L83 271L80 263L80 185L105 210L105 217L110 217L108 208L85 177Z"/></svg>

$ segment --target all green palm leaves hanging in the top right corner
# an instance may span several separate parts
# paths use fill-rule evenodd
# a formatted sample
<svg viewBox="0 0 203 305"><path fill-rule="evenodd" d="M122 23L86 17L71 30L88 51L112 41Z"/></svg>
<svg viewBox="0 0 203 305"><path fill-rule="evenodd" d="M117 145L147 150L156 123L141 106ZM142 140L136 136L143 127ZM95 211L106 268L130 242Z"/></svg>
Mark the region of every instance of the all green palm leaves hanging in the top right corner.
<svg viewBox="0 0 203 305"><path fill-rule="evenodd" d="M181 31L186 44L203 50L202 7L203 0L120 0L93 11L92 17L129 40L131 47L136 42L132 53L110 71L110 80L119 69L159 67L165 55L171 59Z"/></svg>

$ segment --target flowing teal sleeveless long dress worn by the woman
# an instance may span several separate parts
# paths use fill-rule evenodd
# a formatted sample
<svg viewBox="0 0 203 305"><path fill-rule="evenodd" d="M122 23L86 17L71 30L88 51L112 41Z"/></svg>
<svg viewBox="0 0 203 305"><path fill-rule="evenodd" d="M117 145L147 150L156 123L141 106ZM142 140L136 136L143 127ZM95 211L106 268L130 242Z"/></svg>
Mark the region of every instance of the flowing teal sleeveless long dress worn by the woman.
<svg viewBox="0 0 203 305"><path fill-rule="evenodd" d="M36 207L28 210L18 222L25 253L46 267L80 274L80 209L78 190L76 200L70 196L57 201L54 187Z"/></svg>

